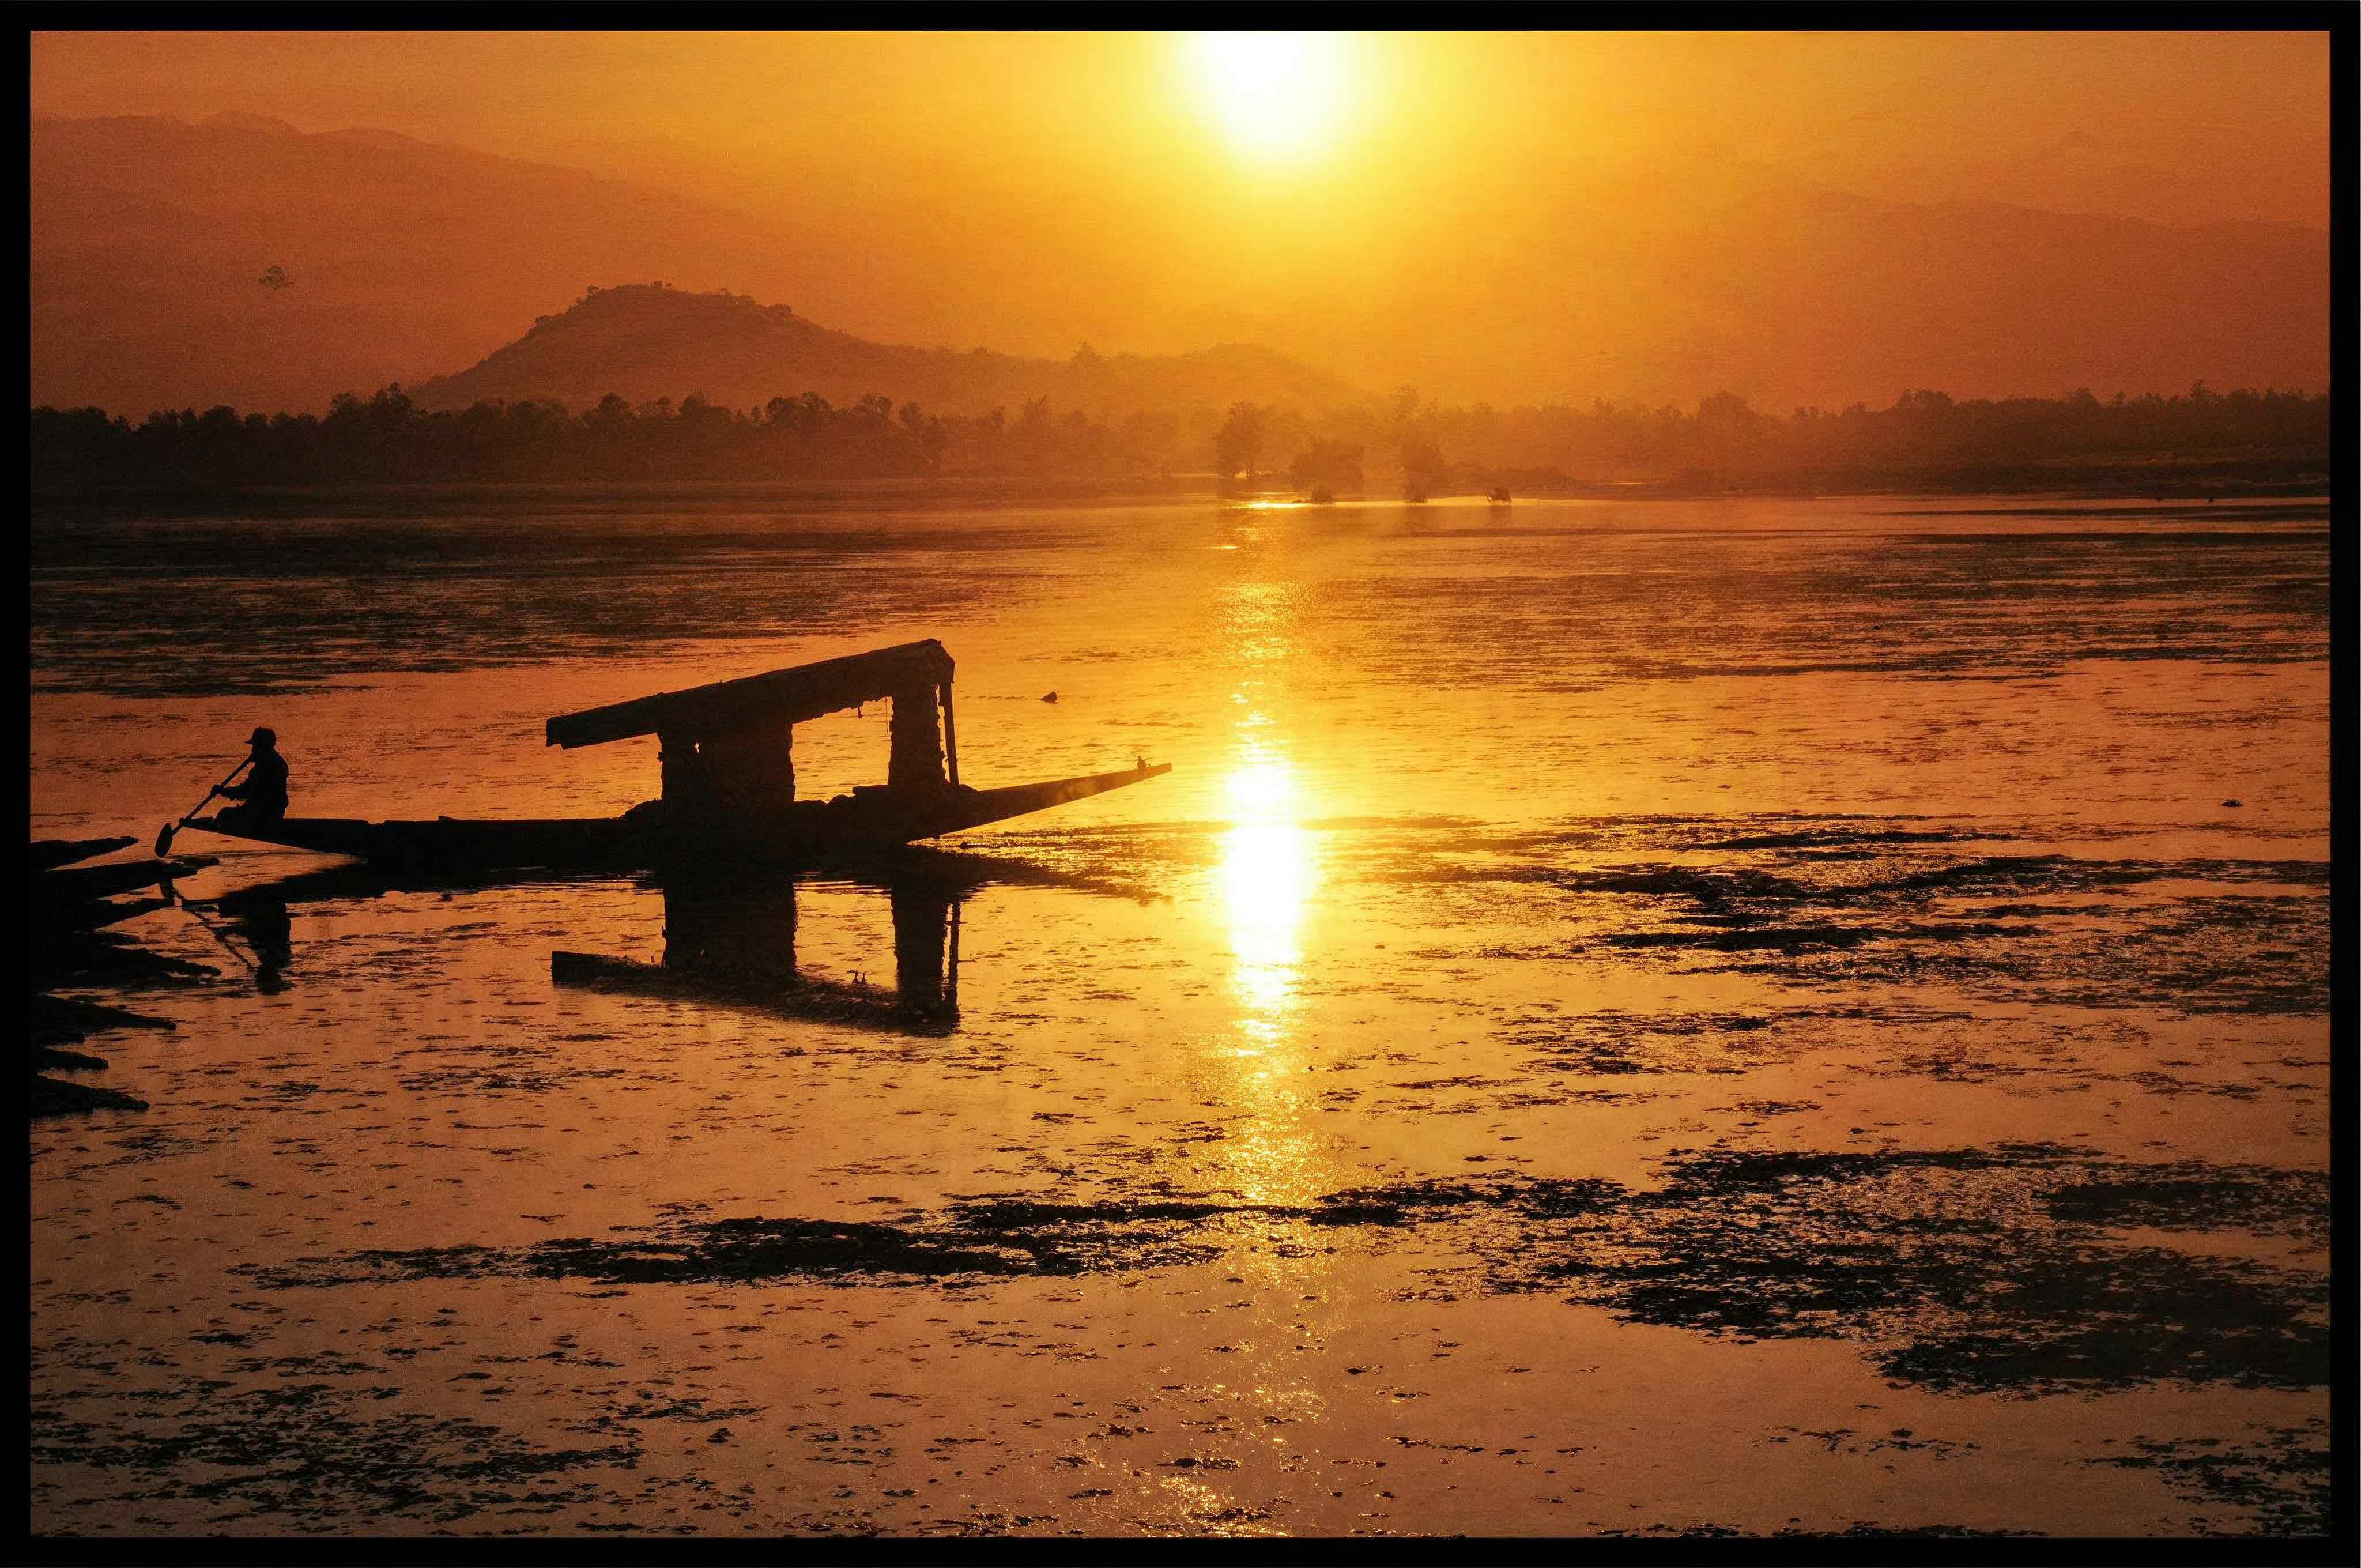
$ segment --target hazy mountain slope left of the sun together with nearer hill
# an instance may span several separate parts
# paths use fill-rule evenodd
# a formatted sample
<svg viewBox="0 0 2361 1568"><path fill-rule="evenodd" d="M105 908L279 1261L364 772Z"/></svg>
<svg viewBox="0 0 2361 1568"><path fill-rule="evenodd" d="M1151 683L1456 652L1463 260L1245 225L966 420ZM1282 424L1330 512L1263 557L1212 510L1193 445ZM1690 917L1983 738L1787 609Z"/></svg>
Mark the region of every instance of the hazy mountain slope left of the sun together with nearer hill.
<svg viewBox="0 0 2361 1568"><path fill-rule="evenodd" d="M864 342L699 290L843 295L890 262L791 222L378 130L302 135L248 113L33 120L31 182L33 404L316 411L392 380L437 406L876 392L1013 416L1027 397L1098 413L1350 397L1247 345L1093 364ZM264 283L269 269L286 281ZM602 288L543 316L628 279L680 288Z"/></svg>

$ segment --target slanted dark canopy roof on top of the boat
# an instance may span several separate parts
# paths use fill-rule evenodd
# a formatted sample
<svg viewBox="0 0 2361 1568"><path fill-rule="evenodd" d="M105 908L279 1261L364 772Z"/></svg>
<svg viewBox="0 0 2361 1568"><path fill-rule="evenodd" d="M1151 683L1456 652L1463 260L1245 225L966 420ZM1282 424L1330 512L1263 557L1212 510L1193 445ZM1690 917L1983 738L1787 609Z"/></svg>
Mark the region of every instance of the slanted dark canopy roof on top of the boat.
<svg viewBox="0 0 2361 1568"><path fill-rule="evenodd" d="M548 744L600 746L635 734L685 734L704 739L758 720L800 725L807 718L883 701L897 692L933 690L951 678L951 654L942 642L902 642L869 654L798 664L767 675L715 680L687 692L656 692L633 701L560 713L548 723Z"/></svg>

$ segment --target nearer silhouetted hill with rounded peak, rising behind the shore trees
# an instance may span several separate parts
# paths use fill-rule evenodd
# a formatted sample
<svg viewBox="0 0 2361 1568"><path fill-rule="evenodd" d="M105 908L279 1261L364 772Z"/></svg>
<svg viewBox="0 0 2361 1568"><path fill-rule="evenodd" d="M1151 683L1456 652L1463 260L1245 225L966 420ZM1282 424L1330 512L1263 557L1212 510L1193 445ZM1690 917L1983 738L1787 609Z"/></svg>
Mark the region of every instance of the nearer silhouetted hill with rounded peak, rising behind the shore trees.
<svg viewBox="0 0 2361 1568"><path fill-rule="evenodd" d="M529 397L588 409L607 392L633 404L696 392L737 409L803 392L833 404L883 394L935 413L1006 409L1011 416L1039 397L1060 413L1093 416L1232 401L1327 409L1355 399L1334 378L1242 342L1155 357L959 354L866 342L805 321L786 305L656 283L597 288L571 309L541 316L482 364L411 387L425 409Z"/></svg>

